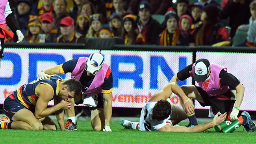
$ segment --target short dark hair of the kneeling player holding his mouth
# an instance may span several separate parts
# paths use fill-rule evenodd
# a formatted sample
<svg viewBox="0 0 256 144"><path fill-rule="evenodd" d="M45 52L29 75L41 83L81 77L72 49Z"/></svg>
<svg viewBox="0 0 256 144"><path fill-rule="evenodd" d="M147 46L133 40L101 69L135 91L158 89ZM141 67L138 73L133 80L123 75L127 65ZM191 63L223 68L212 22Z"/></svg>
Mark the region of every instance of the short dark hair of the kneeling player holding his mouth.
<svg viewBox="0 0 256 144"><path fill-rule="evenodd" d="M67 79L62 84L68 86L67 90L69 92L75 92L75 96L80 96L80 94L82 93L82 84L77 79Z"/></svg>

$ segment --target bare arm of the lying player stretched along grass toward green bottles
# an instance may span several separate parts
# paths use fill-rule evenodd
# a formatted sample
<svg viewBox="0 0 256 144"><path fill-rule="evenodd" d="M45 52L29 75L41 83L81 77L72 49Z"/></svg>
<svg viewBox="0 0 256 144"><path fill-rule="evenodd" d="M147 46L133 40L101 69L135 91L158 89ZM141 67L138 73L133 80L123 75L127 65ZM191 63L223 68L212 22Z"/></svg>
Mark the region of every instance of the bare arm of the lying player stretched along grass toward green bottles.
<svg viewBox="0 0 256 144"><path fill-rule="evenodd" d="M214 118L213 121L208 122L207 124L202 124L198 126L193 127L184 127L184 126L171 126L171 125L165 125L158 129L158 131L163 132L202 132L207 129L210 129L211 127L214 127L216 124L219 124L221 122L224 122L226 118L226 113L222 114L221 116L218 116L220 112L218 112Z"/></svg>

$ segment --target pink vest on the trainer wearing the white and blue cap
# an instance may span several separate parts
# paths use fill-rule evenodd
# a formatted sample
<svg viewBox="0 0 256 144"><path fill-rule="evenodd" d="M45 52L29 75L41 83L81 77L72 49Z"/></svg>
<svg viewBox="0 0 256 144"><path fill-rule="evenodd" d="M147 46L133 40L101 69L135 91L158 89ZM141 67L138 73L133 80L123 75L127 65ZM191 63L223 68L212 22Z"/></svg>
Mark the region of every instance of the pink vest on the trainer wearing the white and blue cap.
<svg viewBox="0 0 256 144"><path fill-rule="evenodd" d="M85 61L88 59L88 57L79 57L76 67L71 73L71 78L75 78L80 80L83 71L85 70ZM89 86L89 88L84 92L85 94L100 94L102 93L102 84L104 83L104 79L107 73L109 65L106 63L103 63L102 68L98 71L98 73L95 75L95 78L93 79L93 82Z"/></svg>

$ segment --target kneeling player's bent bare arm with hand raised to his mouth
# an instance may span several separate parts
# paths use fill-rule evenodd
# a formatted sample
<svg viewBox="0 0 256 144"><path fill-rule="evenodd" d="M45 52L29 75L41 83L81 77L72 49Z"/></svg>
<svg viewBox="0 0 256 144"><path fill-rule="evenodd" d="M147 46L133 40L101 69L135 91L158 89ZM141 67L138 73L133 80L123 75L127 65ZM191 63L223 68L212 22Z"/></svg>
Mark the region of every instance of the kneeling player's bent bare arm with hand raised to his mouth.
<svg viewBox="0 0 256 144"><path fill-rule="evenodd" d="M61 100L60 103L53 107L47 108L48 102L52 99L54 94L53 90L48 85L39 84L36 93L39 96L35 105L35 117L37 119L44 118L59 109L70 109L71 103L64 100Z"/></svg>

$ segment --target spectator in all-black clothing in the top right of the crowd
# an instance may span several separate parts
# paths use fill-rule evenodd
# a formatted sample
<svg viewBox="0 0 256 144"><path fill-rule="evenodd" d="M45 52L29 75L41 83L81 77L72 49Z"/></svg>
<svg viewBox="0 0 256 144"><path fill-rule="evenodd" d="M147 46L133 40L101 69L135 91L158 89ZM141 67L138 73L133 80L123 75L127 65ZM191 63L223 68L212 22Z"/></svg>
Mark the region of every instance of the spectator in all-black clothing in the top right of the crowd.
<svg viewBox="0 0 256 144"><path fill-rule="evenodd" d="M230 26L230 37L235 36L238 26L249 24L250 19L250 3L253 0L229 0L228 4L221 10L219 18L224 20L229 18L228 26Z"/></svg>

